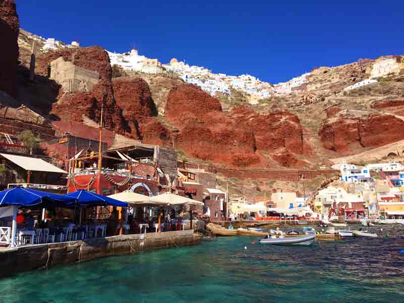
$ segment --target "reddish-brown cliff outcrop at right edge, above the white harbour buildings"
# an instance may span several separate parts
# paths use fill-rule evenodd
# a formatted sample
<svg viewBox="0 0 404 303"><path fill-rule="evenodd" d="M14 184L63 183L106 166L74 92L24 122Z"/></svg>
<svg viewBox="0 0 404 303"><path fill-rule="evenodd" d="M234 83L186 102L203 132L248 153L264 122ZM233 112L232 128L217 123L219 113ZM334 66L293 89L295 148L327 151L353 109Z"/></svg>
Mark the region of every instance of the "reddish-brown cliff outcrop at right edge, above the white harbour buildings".
<svg viewBox="0 0 404 303"><path fill-rule="evenodd" d="M319 131L325 148L345 152L349 144L378 147L404 139L404 120L390 114L352 116L348 112L323 122Z"/></svg>

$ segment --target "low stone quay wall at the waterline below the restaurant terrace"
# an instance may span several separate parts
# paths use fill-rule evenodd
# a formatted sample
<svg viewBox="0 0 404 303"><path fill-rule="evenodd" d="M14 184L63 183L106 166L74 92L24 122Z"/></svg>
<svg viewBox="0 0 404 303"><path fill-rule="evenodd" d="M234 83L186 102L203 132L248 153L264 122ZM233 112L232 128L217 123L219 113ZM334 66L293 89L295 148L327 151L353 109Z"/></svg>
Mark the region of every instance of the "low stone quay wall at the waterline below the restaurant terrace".
<svg viewBox="0 0 404 303"><path fill-rule="evenodd" d="M143 250L193 245L200 241L200 236L194 235L193 230L146 233L144 240L140 237L139 234L120 235L0 250L0 277L97 258L135 254ZM144 245L141 245L142 242Z"/></svg>

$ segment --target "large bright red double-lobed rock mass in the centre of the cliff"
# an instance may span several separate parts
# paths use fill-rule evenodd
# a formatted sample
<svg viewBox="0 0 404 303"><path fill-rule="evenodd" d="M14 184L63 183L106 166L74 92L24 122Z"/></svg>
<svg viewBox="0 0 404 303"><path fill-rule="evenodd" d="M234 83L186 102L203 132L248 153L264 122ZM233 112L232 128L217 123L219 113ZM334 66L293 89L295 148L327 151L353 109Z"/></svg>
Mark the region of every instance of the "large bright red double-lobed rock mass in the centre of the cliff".
<svg viewBox="0 0 404 303"><path fill-rule="evenodd" d="M260 162L252 130L223 113L219 100L199 87L171 89L166 116L179 129L177 146L188 155L236 166Z"/></svg>

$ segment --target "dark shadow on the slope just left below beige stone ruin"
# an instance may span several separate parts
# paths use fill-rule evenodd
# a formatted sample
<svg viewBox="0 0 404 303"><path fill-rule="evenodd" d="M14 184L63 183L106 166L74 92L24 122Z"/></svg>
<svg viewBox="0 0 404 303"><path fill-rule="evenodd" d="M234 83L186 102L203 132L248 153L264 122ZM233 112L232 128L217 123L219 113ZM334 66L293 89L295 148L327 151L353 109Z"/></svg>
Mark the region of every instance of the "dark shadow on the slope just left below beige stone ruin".
<svg viewBox="0 0 404 303"><path fill-rule="evenodd" d="M52 105L57 102L61 85L47 77L36 74L34 81L29 79L29 69L19 66L17 69L17 103L24 104L33 111L51 120L60 120L50 114Z"/></svg>

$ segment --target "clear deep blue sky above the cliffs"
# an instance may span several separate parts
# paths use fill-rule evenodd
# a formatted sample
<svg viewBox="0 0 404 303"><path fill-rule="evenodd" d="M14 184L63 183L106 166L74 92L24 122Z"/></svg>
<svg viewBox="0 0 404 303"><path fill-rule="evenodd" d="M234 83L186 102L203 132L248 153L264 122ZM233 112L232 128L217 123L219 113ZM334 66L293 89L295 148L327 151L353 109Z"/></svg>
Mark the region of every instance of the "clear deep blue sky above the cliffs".
<svg viewBox="0 0 404 303"><path fill-rule="evenodd" d="M271 83L404 54L404 1L16 0L21 27Z"/></svg>

